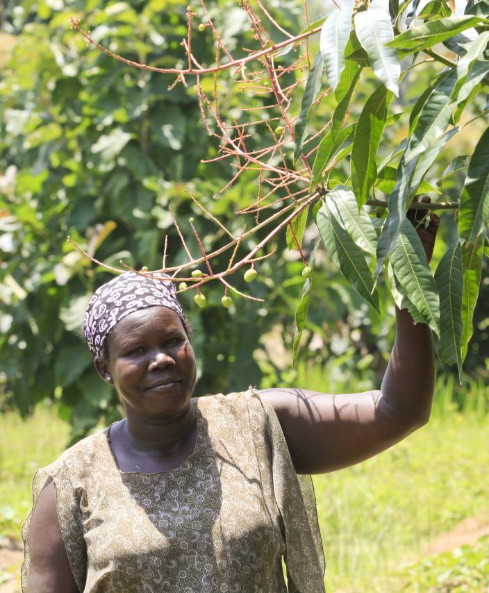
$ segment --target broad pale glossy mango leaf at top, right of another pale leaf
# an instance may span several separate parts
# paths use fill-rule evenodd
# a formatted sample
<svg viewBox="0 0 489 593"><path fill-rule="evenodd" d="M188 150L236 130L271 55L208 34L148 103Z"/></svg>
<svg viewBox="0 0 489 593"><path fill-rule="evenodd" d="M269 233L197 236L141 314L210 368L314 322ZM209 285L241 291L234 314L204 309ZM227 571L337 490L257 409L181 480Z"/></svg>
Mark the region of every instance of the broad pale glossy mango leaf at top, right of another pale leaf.
<svg viewBox="0 0 489 593"><path fill-rule="evenodd" d="M394 39L388 13L381 8L357 12L355 31L363 49L368 53L375 76L399 97L401 64L395 49L385 45Z"/></svg>

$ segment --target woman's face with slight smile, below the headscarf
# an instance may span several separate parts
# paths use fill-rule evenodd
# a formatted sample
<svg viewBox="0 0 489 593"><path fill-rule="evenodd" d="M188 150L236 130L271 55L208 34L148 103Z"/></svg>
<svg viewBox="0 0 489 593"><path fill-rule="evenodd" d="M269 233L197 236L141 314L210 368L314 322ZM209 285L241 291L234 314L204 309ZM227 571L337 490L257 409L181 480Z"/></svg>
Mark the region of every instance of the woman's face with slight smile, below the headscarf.
<svg viewBox="0 0 489 593"><path fill-rule="evenodd" d="M114 383L126 412L149 419L179 417L197 376L192 346L172 309L150 307L119 321L108 335L101 376Z"/></svg>

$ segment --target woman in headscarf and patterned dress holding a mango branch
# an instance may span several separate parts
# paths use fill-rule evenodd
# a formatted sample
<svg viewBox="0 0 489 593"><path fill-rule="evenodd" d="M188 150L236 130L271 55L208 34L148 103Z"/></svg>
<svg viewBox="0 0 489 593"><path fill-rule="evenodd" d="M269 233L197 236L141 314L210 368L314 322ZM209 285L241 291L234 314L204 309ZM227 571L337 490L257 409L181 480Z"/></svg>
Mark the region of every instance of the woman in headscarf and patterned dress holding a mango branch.
<svg viewBox="0 0 489 593"><path fill-rule="evenodd" d="M437 228L431 215L418 229L428 258ZM250 387L192 399L189 328L168 281L114 278L83 330L126 419L36 474L24 591L324 591L307 474L364 460L429 418L431 333L406 310L381 390L340 396Z"/></svg>

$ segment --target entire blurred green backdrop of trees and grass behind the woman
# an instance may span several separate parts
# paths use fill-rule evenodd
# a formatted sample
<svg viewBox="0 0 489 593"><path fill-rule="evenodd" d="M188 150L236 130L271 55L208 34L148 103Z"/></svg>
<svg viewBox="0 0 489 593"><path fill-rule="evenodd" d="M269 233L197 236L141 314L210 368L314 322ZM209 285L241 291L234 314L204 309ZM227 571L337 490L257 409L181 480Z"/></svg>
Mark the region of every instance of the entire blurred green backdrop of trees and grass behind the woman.
<svg viewBox="0 0 489 593"><path fill-rule="evenodd" d="M269 4L282 26L299 31L304 20L298 0ZM151 269L161 265L167 234L168 261L176 265L186 256L169 217L170 204L192 253L199 251L186 224L190 215L206 249L226 242L226 235L192 204L186 189L234 233L246 222L235 211L256 197L253 172L215 197L234 172L223 161L201 163L217 156L218 144L201 124L194 81L189 78L188 88L177 85L169 91L172 78L108 58L88 47L68 23L68 17L81 17L94 39L111 50L131 60L172 67L185 62L181 38L186 33L186 6L172 0L23 0L0 7L4 548L15 548L19 538L35 467L121 414L115 393L94 373L80 335L88 298L110 274L75 251L67 235L98 260L118 265L123 258L134 267ZM194 8L197 27L206 19L200 6ZM242 48L252 41L239 3L212 0L208 8L227 47L235 56L244 55ZM322 7L313 2L309 9L315 15ZM281 37L274 33L274 39ZM210 31L196 30L192 48L201 63L213 63L215 40ZM289 63L293 56L282 59ZM429 67L416 69L399 108L409 108L431 74ZM203 85L210 90L212 78ZM354 109L360 109L371 87L367 76ZM249 120L244 108L270 100L267 94L257 97L240 91L231 76L219 78L218 96L221 112L238 122ZM331 115L333 104L326 97L315 110L318 125ZM249 128L250 146L266 144L261 129ZM395 135L390 140L397 143ZM444 152L447 162L473 148L470 128L456 142ZM436 166L442 170L447 162ZM442 189L451 191L448 186ZM451 244L452 216L442 215L435 260ZM253 224L252 219L248 223ZM266 229L250 238L243 248L251 249L265 233ZM311 225L305 233L306 256L315 238ZM192 294L181 297L194 326L196 395L242 390L249 384L336 393L378 387L393 341L394 306L386 288L380 287L379 316L320 251L301 356L292 367L302 263L297 252L286 249L285 237L276 247L276 256L257 266L260 275L252 287L263 303L233 297L231 309L224 309L222 290L211 285L205 290L204 310L194 306ZM216 260L216 268L226 261ZM394 592L401 586L409 591L451 591L464 583L469 588L459 590L489 587L487 541L475 544L472 534L468 548L458 545L465 540L457 540L455 553L448 548L438 556L430 548L469 518L476 521L476 535L483 535L489 525L487 261L465 362L466 383L458 385L454 369L440 367L428 426L369 462L315 479L331 591ZM241 277L233 281L249 290ZM1 558L0 587L2 581L12 585L17 565L2 565Z"/></svg>

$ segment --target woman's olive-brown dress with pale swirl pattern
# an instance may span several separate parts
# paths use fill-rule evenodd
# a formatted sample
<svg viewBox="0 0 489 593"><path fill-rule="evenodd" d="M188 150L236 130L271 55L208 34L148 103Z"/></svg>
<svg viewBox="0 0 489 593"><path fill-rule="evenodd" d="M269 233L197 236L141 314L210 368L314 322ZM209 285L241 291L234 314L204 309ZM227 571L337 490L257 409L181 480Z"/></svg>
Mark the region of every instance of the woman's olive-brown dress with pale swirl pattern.
<svg viewBox="0 0 489 593"><path fill-rule="evenodd" d="M36 472L34 503L47 477L53 478L78 589L324 592L313 483L295 473L272 406L252 388L192 404L197 442L176 469L121 471L106 428ZM30 519L22 527L24 593Z"/></svg>

